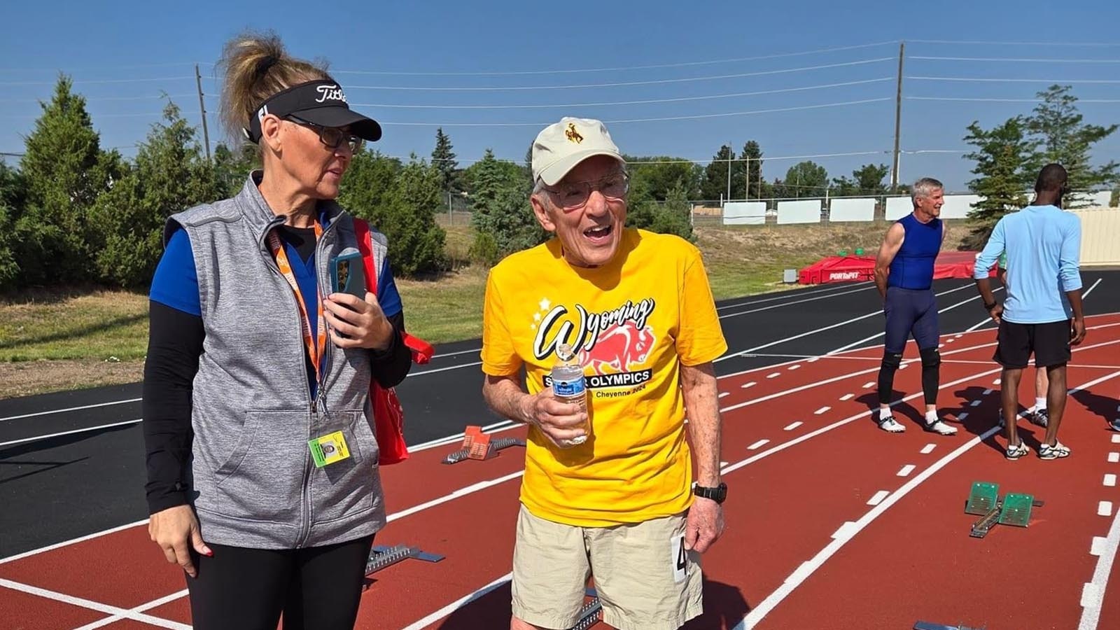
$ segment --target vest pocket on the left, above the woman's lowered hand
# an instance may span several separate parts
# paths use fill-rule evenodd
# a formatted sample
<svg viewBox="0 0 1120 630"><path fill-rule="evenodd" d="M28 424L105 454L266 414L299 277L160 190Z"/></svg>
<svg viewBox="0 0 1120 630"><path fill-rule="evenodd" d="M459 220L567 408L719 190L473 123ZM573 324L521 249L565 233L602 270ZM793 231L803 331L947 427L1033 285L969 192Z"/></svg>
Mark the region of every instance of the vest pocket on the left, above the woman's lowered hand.
<svg viewBox="0 0 1120 630"><path fill-rule="evenodd" d="M310 457L307 424L302 411L248 411L236 446L215 471L213 502L202 507L234 518L297 526Z"/></svg>

